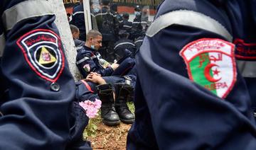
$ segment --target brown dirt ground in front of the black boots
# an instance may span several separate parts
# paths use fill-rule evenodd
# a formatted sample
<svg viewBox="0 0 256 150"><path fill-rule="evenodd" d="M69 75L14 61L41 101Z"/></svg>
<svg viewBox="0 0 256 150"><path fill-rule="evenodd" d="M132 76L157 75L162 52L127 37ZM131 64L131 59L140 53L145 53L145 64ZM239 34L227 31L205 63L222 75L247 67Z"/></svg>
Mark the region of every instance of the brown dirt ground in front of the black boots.
<svg viewBox="0 0 256 150"><path fill-rule="evenodd" d="M89 137L92 149L126 149L127 133L130 127L131 124L121 123L117 126L107 126L99 122L97 125L97 135Z"/></svg>

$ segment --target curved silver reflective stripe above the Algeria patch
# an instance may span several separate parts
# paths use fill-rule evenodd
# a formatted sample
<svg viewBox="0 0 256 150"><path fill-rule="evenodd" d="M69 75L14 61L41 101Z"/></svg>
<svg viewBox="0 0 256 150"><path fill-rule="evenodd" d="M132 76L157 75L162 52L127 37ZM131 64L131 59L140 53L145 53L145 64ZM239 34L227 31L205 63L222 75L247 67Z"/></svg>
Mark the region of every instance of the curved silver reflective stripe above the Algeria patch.
<svg viewBox="0 0 256 150"><path fill-rule="evenodd" d="M228 30L225 29L223 25L215 21L213 18L204 15L203 13L198 13L196 11L171 11L162 16L156 18L156 20L151 23L146 35L153 37L156 33L159 33L160 30L170 26L170 25L188 25L195 28L201 28L203 30L208 30L218 35L222 35L229 42L233 41L232 35L228 33Z"/></svg>

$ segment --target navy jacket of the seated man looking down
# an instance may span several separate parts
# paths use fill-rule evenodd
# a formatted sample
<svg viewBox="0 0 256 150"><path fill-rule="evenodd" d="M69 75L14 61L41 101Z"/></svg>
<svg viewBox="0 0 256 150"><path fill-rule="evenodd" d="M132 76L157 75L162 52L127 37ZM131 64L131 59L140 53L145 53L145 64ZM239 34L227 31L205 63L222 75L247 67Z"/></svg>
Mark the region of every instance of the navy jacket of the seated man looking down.
<svg viewBox="0 0 256 150"><path fill-rule="evenodd" d="M113 72L111 67L107 67L106 69L102 67L97 57L97 52L85 45L78 50L76 64L84 78L90 74L90 71L97 72L102 76L110 76Z"/></svg>

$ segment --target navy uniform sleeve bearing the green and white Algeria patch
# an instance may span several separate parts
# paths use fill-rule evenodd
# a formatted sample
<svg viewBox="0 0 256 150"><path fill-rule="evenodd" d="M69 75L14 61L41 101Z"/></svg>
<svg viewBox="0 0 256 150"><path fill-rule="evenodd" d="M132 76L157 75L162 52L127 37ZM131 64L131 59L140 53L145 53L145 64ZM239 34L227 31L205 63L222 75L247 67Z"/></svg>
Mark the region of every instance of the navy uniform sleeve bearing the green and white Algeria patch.
<svg viewBox="0 0 256 150"><path fill-rule="evenodd" d="M168 10L170 5L170 1L164 1L159 11ZM210 6L203 8L210 11ZM192 17L192 14L206 16L203 11L195 11L166 11L159 18L164 19L166 15L173 20L164 19L166 21L154 24L159 21L156 18L153 23L156 26L151 25L148 29L136 56L139 80L134 102L136 120L129 130L127 149L255 149L256 130L250 96L236 71L234 54L217 57L218 52L234 50L233 44L228 42L230 36L225 35L222 28L228 25L220 25L220 28L215 25L218 30L211 30L209 25L214 25L213 20L221 23L222 16L203 18L203 21L214 18L209 24L200 23L200 20L193 22L197 15ZM183 14L189 17L182 17ZM182 18L181 22L178 18ZM172 24L171 21L178 22ZM166 24L162 27L161 23ZM223 50L224 45L230 47ZM217 54L216 59L210 52ZM228 63L230 70L224 67L222 73L218 72L220 62ZM215 66L212 69L215 73L209 75L208 68L215 64L219 66ZM227 86L217 86L219 83L227 83Z"/></svg>

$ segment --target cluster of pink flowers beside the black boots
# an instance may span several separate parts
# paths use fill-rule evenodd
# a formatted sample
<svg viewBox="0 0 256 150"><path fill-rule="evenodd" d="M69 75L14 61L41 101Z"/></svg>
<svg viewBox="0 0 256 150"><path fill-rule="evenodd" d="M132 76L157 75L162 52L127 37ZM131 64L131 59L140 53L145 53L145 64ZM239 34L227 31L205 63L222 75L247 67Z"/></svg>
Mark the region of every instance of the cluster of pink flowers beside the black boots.
<svg viewBox="0 0 256 150"><path fill-rule="evenodd" d="M85 100L79 103L79 105L86 111L86 115L89 118L93 118L98 115L97 113L101 107L101 104L101 100L98 100L97 98L95 98L95 102Z"/></svg>

